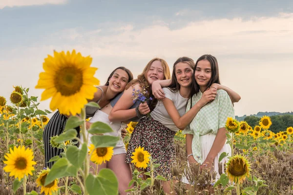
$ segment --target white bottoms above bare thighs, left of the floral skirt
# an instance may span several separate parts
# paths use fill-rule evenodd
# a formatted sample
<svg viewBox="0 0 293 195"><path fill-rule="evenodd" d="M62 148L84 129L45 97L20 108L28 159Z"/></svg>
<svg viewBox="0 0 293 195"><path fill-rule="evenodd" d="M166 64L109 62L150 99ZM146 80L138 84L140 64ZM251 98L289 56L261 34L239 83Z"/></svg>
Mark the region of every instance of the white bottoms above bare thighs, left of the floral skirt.
<svg viewBox="0 0 293 195"><path fill-rule="evenodd" d="M122 137L121 137L121 130L126 127L126 124L123 122L118 122L118 121L111 122L109 120L109 115L104 113L101 110L97 110L95 115L89 120L89 122L91 122L91 123L97 122L97 121L104 122L113 129L113 132L105 133L104 135L120 137L120 140L117 142L116 146L113 149L113 151L114 151L113 155L126 154L125 145L124 145ZM87 136L87 132L86 132L86 136ZM90 138L92 136L93 136L92 134L88 135L88 145L92 144L92 142L90 140ZM83 142L82 137L81 137L81 141ZM80 144L80 147L81 147L81 144Z"/></svg>

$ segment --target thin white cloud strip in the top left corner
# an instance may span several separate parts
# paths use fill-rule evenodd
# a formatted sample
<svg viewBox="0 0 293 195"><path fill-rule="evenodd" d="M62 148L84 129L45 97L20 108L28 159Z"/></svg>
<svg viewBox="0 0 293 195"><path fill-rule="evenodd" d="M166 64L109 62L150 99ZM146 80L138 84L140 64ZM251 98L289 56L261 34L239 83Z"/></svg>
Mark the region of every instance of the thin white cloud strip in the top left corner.
<svg viewBox="0 0 293 195"><path fill-rule="evenodd" d="M65 4L68 0L1 0L0 9L4 7L44 5L44 4Z"/></svg>

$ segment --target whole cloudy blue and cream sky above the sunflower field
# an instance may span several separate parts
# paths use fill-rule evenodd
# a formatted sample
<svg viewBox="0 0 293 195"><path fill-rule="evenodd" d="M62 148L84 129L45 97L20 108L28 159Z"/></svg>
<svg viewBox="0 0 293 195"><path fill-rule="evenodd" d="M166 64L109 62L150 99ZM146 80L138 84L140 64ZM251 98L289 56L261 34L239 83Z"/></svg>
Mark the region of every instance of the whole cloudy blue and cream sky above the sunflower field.
<svg viewBox="0 0 293 195"><path fill-rule="evenodd" d="M0 0L0 96L21 85L41 97L44 58L73 49L93 58L101 84L118 66L136 78L155 57L172 70L211 54L241 96L235 115L293 111L292 0Z"/></svg>

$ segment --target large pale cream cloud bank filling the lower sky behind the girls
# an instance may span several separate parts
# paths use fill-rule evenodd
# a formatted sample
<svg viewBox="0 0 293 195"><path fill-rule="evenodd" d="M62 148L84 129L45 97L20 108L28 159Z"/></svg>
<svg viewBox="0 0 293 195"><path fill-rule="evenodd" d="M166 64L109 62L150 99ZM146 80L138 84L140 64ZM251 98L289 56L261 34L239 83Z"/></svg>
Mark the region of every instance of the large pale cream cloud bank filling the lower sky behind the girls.
<svg viewBox="0 0 293 195"><path fill-rule="evenodd" d="M96 77L102 83L117 66L128 67L135 76L153 57L166 59L169 66L182 56L196 60L203 54L217 57L222 84L237 91L242 99L235 104L236 115L250 115L259 111L293 111L293 14L278 17L242 20L203 20L190 22L180 29L168 25L151 25L136 29L133 24L112 24L93 31L64 29L44 38L46 44L31 48L17 48L1 57L0 69L5 73L0 83L11 80L1 92L8 97L12 85L22 84L34 90L42 60L46 54L57 51L80 51L93 57L93 66L99 67ZM52 39L59 41L51 45ZM64 43L63 39L66 39ZM68 39L70 40L68 43ZM55 41L56 42L56 41ZM3 59L11 58L6 60ZM23 74L30 71L30 76ZM43 104L42 104L43 105ZM44 106L48 109L48 103Z"/></svg>

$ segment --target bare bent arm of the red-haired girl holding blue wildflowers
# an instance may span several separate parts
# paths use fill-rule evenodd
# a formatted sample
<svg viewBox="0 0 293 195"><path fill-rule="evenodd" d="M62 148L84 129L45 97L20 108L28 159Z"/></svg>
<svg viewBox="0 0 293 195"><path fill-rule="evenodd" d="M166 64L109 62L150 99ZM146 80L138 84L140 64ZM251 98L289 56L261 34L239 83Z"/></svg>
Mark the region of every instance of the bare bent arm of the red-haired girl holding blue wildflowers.
<svg viewBox="0 0 293 195"><path fill-rule="evenodd" d="M137 84L134 86L134 89L142 90L142 87ZM132 100L132 92L132 87L129 87L127 90L124 91L123 95L117 101L109 114L110 121L126 121L137 116L135 108L129 109L134 104ZM139 112L142 115L146 115L147 113L149 113L150 110L148 108L148 105L146 103L141 103L139 105Z"/></svg>

